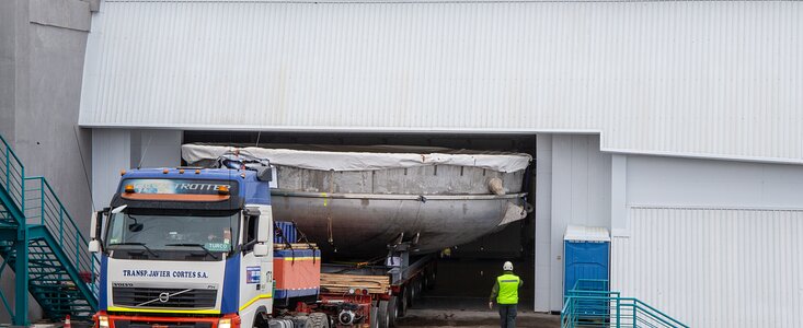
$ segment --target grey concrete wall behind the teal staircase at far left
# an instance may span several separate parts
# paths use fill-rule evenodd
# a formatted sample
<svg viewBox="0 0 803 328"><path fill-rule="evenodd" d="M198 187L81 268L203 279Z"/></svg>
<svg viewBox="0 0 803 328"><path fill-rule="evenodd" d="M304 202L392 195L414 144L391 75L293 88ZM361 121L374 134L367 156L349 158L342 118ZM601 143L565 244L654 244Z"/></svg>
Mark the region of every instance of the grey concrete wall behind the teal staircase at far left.
<svg viewBox="0 0 803 328"><path fill-rule="evenodd" d="M84 231L92 208L91 134L77 122L90 7L80 0L0 1L0 134L25 175L46 177ZM5 271L0 285L12 295L13 274ZM31 318L41 317L33 298L30 304ZM0 311L0 323L8 321Z"/></svg>

